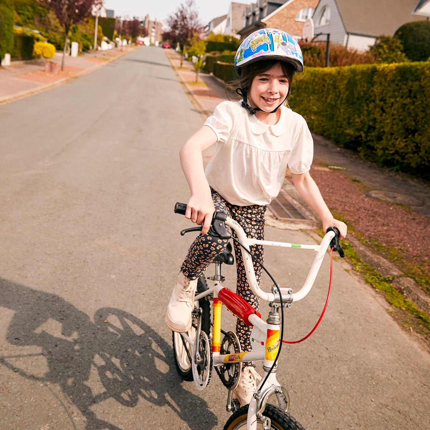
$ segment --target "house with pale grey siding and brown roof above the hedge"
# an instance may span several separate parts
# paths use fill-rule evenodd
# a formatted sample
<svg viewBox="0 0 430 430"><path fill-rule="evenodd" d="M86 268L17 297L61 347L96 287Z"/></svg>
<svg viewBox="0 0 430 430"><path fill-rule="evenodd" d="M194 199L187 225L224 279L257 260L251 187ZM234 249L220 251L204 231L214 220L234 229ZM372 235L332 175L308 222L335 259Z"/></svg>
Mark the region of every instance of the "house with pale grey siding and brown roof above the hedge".
<svg viewBox="0 0 430 430"><path fill-rule="evenodd" d="M376 37L393 36L406 22L422 20L412 13L415 6L417 0L319 0L312 17L315 35L329 33L330 42L366 50Z"/></svg>

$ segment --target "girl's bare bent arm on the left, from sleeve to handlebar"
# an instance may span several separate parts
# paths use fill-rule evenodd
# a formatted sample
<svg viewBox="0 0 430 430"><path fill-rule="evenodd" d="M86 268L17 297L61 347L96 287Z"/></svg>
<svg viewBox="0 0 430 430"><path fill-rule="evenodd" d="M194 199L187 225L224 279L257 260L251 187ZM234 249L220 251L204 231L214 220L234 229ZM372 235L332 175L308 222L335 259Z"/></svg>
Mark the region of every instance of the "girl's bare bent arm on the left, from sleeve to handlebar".
<svg viewBox="0 0 430 430"><path fill-rule="evenodd" d="M217 135L215 132L210 127L203 126L187 140L184 146L181 147L181 151L179 151L182 171L185 178L187 178L191 191L185 218L198 225L203 224L202 234L208 232L212 215L215 212L211 190L203 169L202 152L216 141Z"/></svg>

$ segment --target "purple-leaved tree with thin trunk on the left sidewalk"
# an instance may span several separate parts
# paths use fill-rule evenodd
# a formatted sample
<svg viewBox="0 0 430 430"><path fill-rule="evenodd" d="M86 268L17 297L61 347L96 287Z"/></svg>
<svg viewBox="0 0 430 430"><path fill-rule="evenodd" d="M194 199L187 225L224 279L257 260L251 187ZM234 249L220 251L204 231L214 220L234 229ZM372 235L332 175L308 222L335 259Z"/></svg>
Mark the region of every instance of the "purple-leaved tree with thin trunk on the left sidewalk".
<svg viewBox="0 0 430 430"><path fill-rule="evenodd" d="M67 38L73 25L79 24L91 15L94 7L103 4L103 0L40 0L55 13L61 27L64 29L63 58L61 71L64 70L64 56L66 55Z"/></svg>

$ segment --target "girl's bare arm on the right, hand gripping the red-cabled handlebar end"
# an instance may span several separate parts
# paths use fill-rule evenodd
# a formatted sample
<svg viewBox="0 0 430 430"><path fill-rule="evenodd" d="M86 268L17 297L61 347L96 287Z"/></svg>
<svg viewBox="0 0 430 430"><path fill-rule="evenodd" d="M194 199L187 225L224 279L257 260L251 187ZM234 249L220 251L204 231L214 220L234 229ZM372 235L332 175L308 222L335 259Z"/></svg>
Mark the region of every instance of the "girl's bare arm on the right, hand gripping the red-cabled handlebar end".
<svg viewBox="0 0 430 430"><path fill-rule="evenodd" d="M303 197L304 201L316 212L319 218L321 218L324 231L326 231L328 227L336 227L340 232L340 239L344 239L347 235L347 225L333 218L332 213L324 202L309 172L300 175L292 173L291 177L301 197Z"/></svg>

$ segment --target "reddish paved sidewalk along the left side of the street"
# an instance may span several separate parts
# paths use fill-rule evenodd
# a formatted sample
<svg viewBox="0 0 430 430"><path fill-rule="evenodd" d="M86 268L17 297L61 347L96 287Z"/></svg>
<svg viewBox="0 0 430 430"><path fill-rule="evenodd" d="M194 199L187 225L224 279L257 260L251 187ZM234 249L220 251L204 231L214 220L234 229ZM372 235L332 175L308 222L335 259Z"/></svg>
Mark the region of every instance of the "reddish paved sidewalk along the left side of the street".
<svg viewBox="0 0 430 430"><path fill-rule="evenodd" d="M43 91L68 79L89 73L133 49L136 48L126 46L123 51L120 48L115 48L109 51L85 53L76 58L66 55L64 71L59 70L58 74L45 72L44 58L30 61L12 61L10 67L0 66L0 103ZM57 63L58 68L61 68L62 55L62 52L57 51L50 60Z"/></svg>

